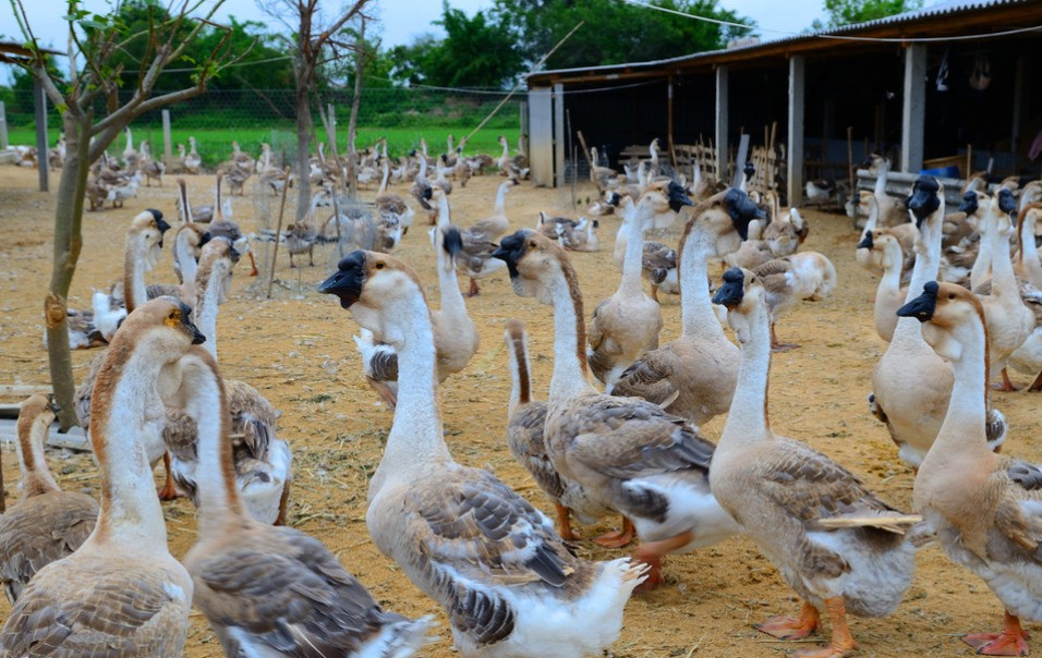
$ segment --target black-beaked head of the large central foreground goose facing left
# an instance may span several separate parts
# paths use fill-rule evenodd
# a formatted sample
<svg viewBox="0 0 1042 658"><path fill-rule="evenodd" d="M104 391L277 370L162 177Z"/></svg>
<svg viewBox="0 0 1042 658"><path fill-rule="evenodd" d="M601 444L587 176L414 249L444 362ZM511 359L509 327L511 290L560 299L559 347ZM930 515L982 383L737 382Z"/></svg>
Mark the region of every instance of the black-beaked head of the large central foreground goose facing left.
<svg viewBox="0 0 1042 658"><path fill-rule="evenodd" d="M416 310L411 302L417 295L425 300L412 268L393 256L363 249L341 258L318 292L337 295L355 322L397 349L404 343L401 327Z"/></svg>

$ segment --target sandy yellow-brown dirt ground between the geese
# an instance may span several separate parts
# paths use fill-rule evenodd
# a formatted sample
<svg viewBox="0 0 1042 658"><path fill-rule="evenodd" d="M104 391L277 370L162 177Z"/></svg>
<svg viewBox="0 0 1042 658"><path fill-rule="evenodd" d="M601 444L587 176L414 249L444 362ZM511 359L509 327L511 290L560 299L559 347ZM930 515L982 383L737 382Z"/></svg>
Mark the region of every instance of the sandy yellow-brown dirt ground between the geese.
<svg viewBox="0 0 1042 658"><path fill-rule="evenodd" d="M473 179L465 188L457 186L450 197L453 221L469 226L490 214L500 181L498 176L484 176ZM57 185L54 179L52 185ZM209 202L211 185L211 176L190 176L195 203ZM0 385L45 386L49 380L41 309L50 277L54 204L52 194L35 190L35 171L0 169ZM123 231L136 212L156 207L174 220L174 182L168 176L165 187L142 187L137 198L122 210L86 215L71 307L89 308L92 288L106 287L121 276ZM592 187L580 186L579 192L581 199L593 194ZM530 227L538 210L559 208L569 198L567 192L525 183L510 191L507 214L514 228ZM237 198L235 218L246 231L269 226L277 208L271 202L269 195L258 193ZM886 429L868 413L865 403L872 369L885 348L875 334L869 302L875 279L855 264L858 237L848 219L814 211L808 211L807 217L811 233L804 248L816 249L833 260L839 285L829 300L805 303L778 324L782 339L799 342L802 348L773 360L772 425L779 434L834 456L886 500L907 510L912 473L898 461ZM616 218L602 219L602 251L573 255L587 309L618 284L611 265L618 226ZM675 240L675 234L667 239ZM255 246L262 270L270 259L270 248ZM437 278L425 227L414 226L396 255L417 269L428 282L428 298L436 302ZM325 246L316 249L316 267L291 270L283 252L276 269L274 298L267 301L257 291L258 281L246 277L247 270L240 265L231 298L220 310L221 369L227 377L254 385L282 412L279 436L289 439L293 450L293 525L320 538L388 609L412 617L438 613L440 638L422 655L451 656L450 632L438 606L376 550L366 533L367 477L379 462L391 414L362 377L351 340L356 325L337 300L314 290L335 263L332 247ZM711 271L717 270L711 266ZM172 280L171 257L163 255L148 281ZM465 279L461 278L460 283L465 284ZM680 332L678 303L679 297L664 295L663 342ZM553 367L550 308L516 296L505 271L483 281L482 294L469 302L469 308L481 330L482 344L468 368L451 377L441 393L449 449L460 463L494 471L536 507L552 513L552 507L505 443L510 374L502 349L504 320L523 319L531 334L535 392L545 397ZM95 353L74 354L77 378L86 374ZM1025 383L1026 378L1016 379ZM1042 447L1032 438L1042 435L1040 400L1026 392L994 394L995 404L1009 422L1006 450L1034 462L1042 462ZM724 419L717 418L702 429L716 439L723 426ZM17 460L10 444L2 453L10 504L17 496ZM89 455L52 452L50 461L63 487L98 495L97 470ZM163 510L170 551L183 556L195 540L194 509L182 499L165 503ZM590 537L606 529L607 525L584 527L582 533ZM580 541L578 550L592 559L621 555L589 541ZM923 550L918 566L914 584L893 616L851 621L860 644L857 655L971 655L958 635L998 630L1002 607L982 581L949 562L937 547ZM734 538L671 557L665 575L665 586L629 602L622 635L613 648L615 656L777 656L807 646L776 642L752 629L770 614L795 614L799 602L751 541ZM7 612L3 602L0 617ZM186 656L220 655L205 619L193 613Z"/></svg>

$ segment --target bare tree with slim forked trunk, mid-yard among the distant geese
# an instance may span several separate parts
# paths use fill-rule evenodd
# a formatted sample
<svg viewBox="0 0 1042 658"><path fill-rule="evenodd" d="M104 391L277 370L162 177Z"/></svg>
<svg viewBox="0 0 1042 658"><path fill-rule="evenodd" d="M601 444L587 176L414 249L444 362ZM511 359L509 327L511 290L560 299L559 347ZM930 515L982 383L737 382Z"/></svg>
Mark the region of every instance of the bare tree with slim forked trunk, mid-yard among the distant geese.
<svg viewBox="0 0 1042 658"><path fill-rule="evenodd" d="M369 0L353 0L346 10L326 20L318 10L318 0L265 0L260 8L271 17L295 32L296 52L293 58L293 78L296 107L296 221L303 221L311 210L311 181L307 157L311 153L315 121L311 113L312 95L317 89L317 75L324 65L355 50L354 42L342 40L348 22L362 16ZM293 25L282 16L295 19Z"/></svg>

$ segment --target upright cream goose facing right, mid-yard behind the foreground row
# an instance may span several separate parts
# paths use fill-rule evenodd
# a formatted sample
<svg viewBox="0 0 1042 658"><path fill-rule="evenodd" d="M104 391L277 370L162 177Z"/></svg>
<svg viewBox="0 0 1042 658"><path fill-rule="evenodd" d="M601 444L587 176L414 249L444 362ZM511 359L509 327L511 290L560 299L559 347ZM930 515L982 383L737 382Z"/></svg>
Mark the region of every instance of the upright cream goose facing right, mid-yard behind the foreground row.
<svg viewBox="0 0 1042 658"><path fill-rule="evenodd" d="M594 309L586 334L590 370L608 393L631 363L658 348L662 308L641 288L644 230L665 208L676 212L690 205L691 199L677 183L655 183L641 195L635 217L628 223L622 279L618 290Z"/></svg>

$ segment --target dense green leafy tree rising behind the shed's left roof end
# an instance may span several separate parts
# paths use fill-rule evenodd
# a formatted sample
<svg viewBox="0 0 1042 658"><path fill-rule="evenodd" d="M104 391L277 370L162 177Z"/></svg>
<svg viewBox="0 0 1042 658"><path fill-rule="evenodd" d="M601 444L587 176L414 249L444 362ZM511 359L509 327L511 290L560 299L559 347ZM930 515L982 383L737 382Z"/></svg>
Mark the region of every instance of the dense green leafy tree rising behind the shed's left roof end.
<svg viewBox="0 0 1042 658"><path fill-rule="evenodd" d="M751 36L755 23L718 0L655 0L673 11L740 23L718 25L618 0L496 0L493 16L518 44L526 62L549 51L580 21L585 25L547 60L549 69L621 64L717 50Z"/></svg>

